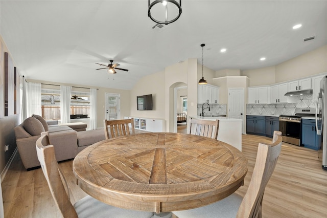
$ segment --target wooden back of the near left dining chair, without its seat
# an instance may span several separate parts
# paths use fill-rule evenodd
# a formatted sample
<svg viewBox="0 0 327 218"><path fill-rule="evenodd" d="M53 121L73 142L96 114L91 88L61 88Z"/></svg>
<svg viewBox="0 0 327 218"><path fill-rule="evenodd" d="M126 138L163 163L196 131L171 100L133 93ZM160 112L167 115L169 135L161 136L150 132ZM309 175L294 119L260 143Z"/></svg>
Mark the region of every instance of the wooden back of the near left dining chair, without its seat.
<svg viewBox="0 0 327 218"><path fill-rule="evenodd" d="M36 141L37 158L48 182L52 197L63 217L78 217L74 206L69 200L68 186L64 178L60 176L60 169L55 156L55 149L49 143L49 133L42 133ZM62 175L62 174L61 174ZM63 181L62 181L63 179ZM64 184L63 184L64 182Z"/></svg>

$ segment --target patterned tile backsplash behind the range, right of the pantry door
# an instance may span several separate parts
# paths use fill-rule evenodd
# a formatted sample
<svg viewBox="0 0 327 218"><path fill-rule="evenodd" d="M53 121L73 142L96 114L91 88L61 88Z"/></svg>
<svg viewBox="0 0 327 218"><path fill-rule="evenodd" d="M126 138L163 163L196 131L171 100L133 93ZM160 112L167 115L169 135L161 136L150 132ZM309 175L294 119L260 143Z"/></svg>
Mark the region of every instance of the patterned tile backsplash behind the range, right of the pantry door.
<svg viewBox="0 0 327 218"><path fill-rule="evenodd" d="M315 108L316 100L312 95L290 96L294 103L247 104L247 115L295 115L295 108Z"/></svg>

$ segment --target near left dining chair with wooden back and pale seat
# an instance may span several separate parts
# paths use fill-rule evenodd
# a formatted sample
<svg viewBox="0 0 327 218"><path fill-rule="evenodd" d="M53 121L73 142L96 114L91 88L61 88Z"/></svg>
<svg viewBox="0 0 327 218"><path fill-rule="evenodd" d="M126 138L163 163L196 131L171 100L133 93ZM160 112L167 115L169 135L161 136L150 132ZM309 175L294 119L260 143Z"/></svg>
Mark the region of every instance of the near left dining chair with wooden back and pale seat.
<svg viewBox="0 0 327 218"><path fill-rule="evenodd" d="M72 205L69 189L55 156L55 149L49 143L49 133L41 133L36 141L37 158L40 161L52 197L63 217L152 217L153 212L127 210L102 203L89 195ZM62 179L61 179L62 178Z"/></svg>

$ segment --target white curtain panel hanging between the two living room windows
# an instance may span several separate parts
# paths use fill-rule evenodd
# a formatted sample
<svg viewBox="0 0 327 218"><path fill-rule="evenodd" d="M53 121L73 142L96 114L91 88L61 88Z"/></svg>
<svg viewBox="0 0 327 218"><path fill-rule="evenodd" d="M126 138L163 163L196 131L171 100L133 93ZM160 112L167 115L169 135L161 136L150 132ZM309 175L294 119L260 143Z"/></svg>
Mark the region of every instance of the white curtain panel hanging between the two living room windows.
<svg viewBox="0 0 327 218"><path fill-rule="evenodd" d="M71 122L72 86L60 86L60 118L61 123Z"/></svg>

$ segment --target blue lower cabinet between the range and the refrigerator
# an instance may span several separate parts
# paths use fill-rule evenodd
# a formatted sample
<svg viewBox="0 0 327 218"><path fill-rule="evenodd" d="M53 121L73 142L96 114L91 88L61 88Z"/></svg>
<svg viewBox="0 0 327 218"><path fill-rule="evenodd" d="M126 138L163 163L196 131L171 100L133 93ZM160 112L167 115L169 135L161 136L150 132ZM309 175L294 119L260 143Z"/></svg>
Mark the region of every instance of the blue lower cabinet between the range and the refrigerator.
<svg viewBox="0 0 327 218"><path fill-rule="evenodd" d="M316 121L302 119L302 145L307 148L319 150L321 147L321 135L317 135Z"/></svg>

